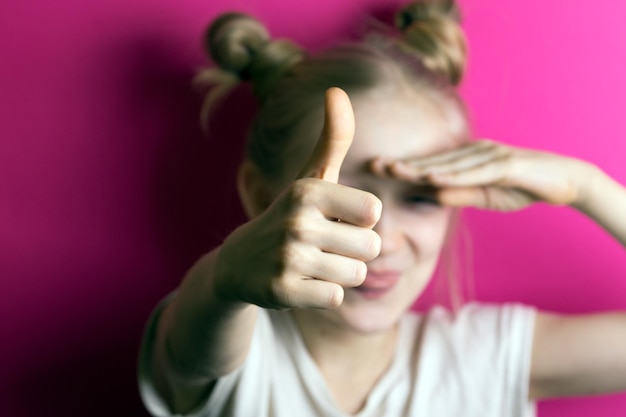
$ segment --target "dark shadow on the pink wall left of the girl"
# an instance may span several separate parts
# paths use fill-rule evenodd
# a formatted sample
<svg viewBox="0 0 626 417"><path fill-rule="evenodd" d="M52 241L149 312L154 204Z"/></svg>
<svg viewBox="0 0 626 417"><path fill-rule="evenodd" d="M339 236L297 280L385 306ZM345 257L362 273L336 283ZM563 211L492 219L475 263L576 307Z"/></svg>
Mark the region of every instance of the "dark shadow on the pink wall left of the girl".
<svg viewBox="0 0 626 417"><path fill-rule="evenodd" d="M114 289L119 294L105 313L96 306L74 308L73 314L81 317L59 323L60 332L49 330L41 355L10 381L5 395L16 405L7 415L147 415L138 397L135 369L148 314L194 260L244 218L235 171L248 125L242 115L254 109L249 94L239 91L229 98L215 114L210 137L204 137L197 120L201 97L191 88L192 63L177 58L180 53L158 37L124 42L111 53L117 55L113 62L127 63L122 71L128 85L115 88L129 89L125 94L130 103L125 105L129 120L136 120L128 125L137 135L136 143L120 152L145 147L152 153L147 175L151 189L141 191L148 200L143 202L149 208L144 214L152 217L154 231L143 241L156 237L163 256L154 260L158 268L118 265L88 272L97 283L122 271L128 287Z"/></svg>

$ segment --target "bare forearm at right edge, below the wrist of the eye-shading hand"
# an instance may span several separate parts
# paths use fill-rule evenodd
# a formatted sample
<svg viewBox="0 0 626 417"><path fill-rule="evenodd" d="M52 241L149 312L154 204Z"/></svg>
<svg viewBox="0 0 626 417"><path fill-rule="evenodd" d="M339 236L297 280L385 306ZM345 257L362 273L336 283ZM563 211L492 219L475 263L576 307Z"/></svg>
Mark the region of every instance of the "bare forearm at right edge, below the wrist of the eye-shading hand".
<svg viewBox="0 0 626 417"><path fill-rule="evenodd" d="M573 206L589 216L626 246L626 189L599 168L590 165L585 186Z"/></svg>

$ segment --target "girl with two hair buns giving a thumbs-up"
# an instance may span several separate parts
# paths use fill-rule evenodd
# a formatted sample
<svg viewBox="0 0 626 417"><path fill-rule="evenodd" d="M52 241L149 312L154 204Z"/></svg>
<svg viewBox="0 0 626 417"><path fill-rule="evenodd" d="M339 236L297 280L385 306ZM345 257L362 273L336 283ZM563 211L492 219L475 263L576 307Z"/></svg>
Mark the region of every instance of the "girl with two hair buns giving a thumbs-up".
<svg viewBox="0 0 626 417"><path fill-rule="evenodd" d="M539 398L626 390L626 313L409 311L458 207L570 205L626 245L626 190L581 160L472 140L451 1L397 24L317 56L244 15L207 32L207 108L239 80L260 103L239 171L250 221L148 325L154 415L532 416Z"/></svg>

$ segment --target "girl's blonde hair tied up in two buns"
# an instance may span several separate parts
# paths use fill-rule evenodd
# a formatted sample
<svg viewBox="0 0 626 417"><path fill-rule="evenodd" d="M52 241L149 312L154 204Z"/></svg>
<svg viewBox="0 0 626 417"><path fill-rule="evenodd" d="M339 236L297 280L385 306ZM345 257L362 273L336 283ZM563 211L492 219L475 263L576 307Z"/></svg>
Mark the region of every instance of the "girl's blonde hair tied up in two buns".
<svg viewBox="0 0 626 417"><path fill-rule="evenodd" d="M297 140L294 132L311 113L322 109L329 87L358 94L400 83L452 104L465 115L456 92L467 59L459 16L453 0L412 2L396 14L395 30L379 31L362 42L313 56L289 40L272 39L251 16L222 15L204 39L216 66L202 70L195 79L196 84L210 87L201 121L206 127L219 99L240 82L250 82L260 106L250 129L247 157L269 184L280 184L289 180L287 155L304 155L314 146L309 138ZM452 300L455 297L451 294Z"/></svg>

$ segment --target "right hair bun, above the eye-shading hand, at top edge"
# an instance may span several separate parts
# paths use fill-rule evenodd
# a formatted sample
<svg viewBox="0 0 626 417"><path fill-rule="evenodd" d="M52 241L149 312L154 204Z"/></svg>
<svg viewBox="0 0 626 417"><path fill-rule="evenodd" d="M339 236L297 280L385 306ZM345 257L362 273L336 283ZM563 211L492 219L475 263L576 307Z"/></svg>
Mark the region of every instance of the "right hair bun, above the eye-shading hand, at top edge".
<svg viewBox="0 0 626 417"><path fill-rule="evenodd" d="M460 12L453 0L422 0L400 10L395 24L427 68L458 85L467 60L459 22Z"/></svg>

